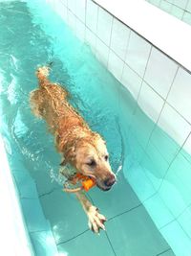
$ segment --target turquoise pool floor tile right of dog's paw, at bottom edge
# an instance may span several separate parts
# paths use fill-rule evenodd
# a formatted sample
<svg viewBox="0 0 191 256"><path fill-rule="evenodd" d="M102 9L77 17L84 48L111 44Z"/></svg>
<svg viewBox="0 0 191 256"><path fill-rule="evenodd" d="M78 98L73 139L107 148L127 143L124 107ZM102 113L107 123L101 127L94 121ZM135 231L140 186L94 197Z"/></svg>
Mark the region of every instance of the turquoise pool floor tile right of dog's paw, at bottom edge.
<svg viewBox="0 0 191 256"><path fill-rule="evenodd" d="M154 256L169 248L143 206L106 223L117 256Z"/></svg>

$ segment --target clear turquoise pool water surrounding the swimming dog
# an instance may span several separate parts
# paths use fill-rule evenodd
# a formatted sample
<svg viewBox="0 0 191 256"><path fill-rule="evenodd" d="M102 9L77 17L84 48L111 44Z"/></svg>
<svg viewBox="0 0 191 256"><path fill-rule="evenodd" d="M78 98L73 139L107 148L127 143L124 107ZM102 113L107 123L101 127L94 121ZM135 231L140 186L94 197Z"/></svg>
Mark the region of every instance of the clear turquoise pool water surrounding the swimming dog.
<svg viewBox="0 0 191 256"><path fill-rule="evenodd" d="M183 159L190 161L190 156L155 126L90 48L44 8L44 1L0 2L0 29L0 131L35 255L175 255L170 245L179 238L172 239L165 228L190 201L184 195L175 208L179 193L168 185L172 172L179 176L180 169L189 171ZM108 218L107 231L100 236L88 229L74 196L62 192L53 137L31 113L34 72L50 61L51 79L67 87L71 104L106 139L117 173L112 191L89 193ZM183 223L179 221L181 229ZM170 245L164 238L171 239Z"/></svg>

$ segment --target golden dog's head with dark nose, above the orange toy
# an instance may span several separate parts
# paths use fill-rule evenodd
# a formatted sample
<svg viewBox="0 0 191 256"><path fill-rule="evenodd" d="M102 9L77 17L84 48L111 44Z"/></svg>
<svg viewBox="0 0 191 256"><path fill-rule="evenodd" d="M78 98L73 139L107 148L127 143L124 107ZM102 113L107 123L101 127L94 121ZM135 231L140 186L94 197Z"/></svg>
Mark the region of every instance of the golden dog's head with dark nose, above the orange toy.
<svg viewBox="0 0 191 256"><path fill-rule="evenodd" d="M82 175L95 177L96 186L103 191L110 190L116 182L105 142L97 133L76 143L73 165Z"/></svg>

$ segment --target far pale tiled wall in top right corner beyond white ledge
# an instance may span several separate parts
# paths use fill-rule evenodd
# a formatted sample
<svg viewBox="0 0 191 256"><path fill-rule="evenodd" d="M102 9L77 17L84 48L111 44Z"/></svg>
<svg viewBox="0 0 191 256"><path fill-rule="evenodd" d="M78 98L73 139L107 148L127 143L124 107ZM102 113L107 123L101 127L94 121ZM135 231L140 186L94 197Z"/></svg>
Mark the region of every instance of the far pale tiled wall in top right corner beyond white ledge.
<svg viewBox="0 0 191 256"><path fill-rule="evenodd" d="M191 0L146 0L191 25Z"/></svg>

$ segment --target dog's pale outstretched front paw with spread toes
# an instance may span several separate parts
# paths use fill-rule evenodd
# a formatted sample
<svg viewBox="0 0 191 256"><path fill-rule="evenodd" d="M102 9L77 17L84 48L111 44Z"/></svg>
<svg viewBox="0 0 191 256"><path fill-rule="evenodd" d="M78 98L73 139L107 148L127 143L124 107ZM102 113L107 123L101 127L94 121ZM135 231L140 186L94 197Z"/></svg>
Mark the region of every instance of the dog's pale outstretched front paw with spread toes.
<svg viewBox="0 0 191 256"><path fill-rule="evenodd" d="M106 218L99 214L98 209L95 206L91 206L88 211L88 225L90 229L93 230L95 233L99 233L99 229L105 230L104 221L107 221Z"/></svg>

